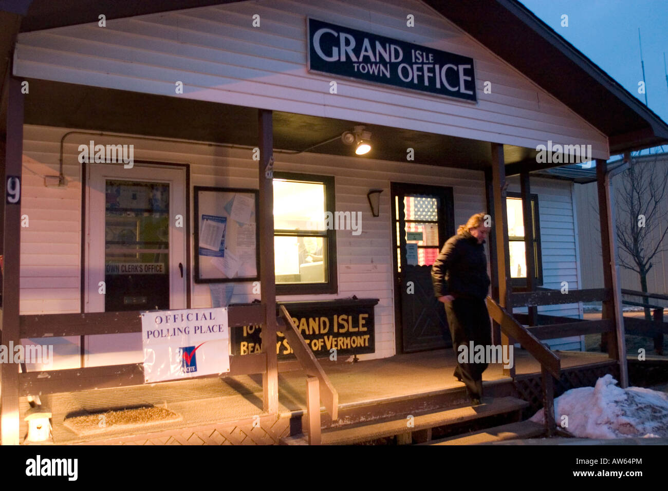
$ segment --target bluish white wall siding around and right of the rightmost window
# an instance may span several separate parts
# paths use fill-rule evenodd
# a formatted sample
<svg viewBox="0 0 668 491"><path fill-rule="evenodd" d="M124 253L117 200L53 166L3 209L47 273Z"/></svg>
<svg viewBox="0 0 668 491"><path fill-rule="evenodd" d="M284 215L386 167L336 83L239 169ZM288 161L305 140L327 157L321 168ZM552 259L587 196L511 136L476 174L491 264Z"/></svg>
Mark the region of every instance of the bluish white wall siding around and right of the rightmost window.
<svg viewBox="0 0 668 491"><path fill-rule="evenodd" d="M572 207L572 184L556 179L530 178L532 194L538 194L540 220L540 246L542 249L543 287L559 290L562 281L568 283L569 290L580 289L578 281L577 247L575 222ZM517 178L510 178L509 191L520 191ZM514 309L526 312L525 309ZM538 313L581 317L580 305L544 305ZM552 349L580 349L580 336L550 339Z"/></svg>

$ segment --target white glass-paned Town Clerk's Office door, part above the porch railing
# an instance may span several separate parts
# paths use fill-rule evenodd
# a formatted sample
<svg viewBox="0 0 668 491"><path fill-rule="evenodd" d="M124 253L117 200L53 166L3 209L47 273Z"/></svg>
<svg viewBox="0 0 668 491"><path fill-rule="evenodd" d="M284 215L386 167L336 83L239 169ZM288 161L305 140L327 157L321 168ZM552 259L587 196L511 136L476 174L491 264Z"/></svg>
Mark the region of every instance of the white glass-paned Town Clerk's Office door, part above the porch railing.
<svg viewBox="0 0 668 491"><path fill-rule="evenodd" d="M186 308L184 170L89 169L87 311Z"/></svg>

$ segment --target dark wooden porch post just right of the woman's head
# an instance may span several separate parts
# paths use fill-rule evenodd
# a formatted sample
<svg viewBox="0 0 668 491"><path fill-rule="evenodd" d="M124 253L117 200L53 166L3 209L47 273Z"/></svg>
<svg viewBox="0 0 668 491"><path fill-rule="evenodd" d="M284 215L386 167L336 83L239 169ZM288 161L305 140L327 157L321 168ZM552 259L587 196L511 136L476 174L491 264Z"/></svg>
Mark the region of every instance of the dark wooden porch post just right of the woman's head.
<svg viewBox="0 0 668 491"><path fill-rule="evenodd" d="M510 307L510 258L508 257L508 210L506 210L506 162L504 161L503 145L492 143L492 185L494 189L494 249L496 249L496 265L499 282L499 305ZM501 333L501 344L514 343ZM515 365L504 368L506 376L515 376Z"/></svg>

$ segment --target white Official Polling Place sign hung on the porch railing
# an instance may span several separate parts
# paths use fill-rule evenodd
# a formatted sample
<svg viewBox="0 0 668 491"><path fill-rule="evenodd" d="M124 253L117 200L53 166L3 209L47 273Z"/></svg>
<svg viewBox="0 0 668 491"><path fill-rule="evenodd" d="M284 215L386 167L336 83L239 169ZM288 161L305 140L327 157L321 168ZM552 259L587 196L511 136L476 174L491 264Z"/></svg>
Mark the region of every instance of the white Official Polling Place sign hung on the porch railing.
<svg viewBox="0 0 668 491"><path fill-rule="evenodd" d="M227 309L142 313L144 381L230 371Z"/></svg>

